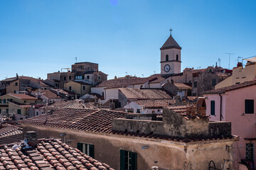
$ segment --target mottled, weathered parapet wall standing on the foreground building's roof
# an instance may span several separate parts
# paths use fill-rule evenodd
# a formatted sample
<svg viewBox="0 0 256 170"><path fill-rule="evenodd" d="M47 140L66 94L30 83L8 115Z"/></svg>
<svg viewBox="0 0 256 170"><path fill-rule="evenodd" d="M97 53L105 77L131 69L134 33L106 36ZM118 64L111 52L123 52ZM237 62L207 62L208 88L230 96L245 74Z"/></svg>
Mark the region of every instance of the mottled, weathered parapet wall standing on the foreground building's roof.
<svg viewBox="0 0 256 170"><path fill-rule="evenodd" d="M112 120L112 130L174 137L217 137L231 135L231 123L209 122L208 118L186 119L164 108L163 121L117 118Z"/></svg>

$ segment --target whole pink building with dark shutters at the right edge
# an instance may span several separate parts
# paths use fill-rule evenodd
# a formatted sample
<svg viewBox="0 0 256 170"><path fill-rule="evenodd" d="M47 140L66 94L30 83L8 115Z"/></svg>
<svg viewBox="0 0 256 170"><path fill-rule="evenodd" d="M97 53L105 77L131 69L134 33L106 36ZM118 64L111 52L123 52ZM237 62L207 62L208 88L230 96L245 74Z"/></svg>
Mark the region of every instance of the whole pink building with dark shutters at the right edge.
<svg viewBox="0 0 256 170"><path fill-rule="evenodd" d="M232 134L240 136L233 145L234 169L242 159L256 169L256 81L206 91L203 96L210 120L230 121Z"/></svg>

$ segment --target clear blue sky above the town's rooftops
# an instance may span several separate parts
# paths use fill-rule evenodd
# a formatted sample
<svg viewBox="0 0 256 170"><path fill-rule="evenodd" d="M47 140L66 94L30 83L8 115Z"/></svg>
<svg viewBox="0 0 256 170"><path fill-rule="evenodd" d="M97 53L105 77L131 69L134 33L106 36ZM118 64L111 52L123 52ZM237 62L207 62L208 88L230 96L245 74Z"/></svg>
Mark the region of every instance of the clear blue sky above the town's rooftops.
<svg viewBox="0 0 256 170"><path fill-rule="evenodd" d="M109 79L160 73L161 45L173 36L181 68L256 55L255 1L1 0L0 79L46 79L78 62L96 62Z"/></svg>

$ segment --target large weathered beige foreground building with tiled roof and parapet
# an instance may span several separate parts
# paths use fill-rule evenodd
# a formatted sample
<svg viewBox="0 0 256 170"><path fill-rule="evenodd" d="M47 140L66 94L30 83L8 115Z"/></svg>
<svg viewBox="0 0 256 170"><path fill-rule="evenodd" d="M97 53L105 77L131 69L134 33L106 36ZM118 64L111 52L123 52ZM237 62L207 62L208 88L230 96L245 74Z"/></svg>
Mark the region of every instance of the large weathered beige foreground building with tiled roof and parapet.
<svg viewBox="0 0 256 170"><path fill-rule="evenodd" d="M114 169L205 170L213 164L233 169L232 145L238 139L231 135L230 123L209 122L205 108L198 108L185 113L164 109L162 118L144 120L120 111L62 108L47 120L39 115L19 123L24 132L62 138Z"/></svg>

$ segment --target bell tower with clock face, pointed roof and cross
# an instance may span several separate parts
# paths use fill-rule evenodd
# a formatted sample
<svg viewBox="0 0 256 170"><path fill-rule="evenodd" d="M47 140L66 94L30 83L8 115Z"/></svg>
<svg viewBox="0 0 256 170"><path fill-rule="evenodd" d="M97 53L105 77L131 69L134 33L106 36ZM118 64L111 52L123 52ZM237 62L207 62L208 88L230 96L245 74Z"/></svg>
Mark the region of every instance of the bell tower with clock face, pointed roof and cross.
<svg viewBox="0 0 256 170"><path fill-rule="evenodd" d="M171 32L172 30L170 30ZM161 50L161 77L181 73L181 47L169 36Z"/></svg>

